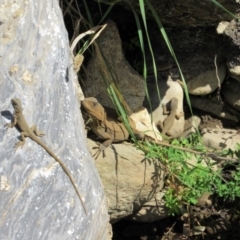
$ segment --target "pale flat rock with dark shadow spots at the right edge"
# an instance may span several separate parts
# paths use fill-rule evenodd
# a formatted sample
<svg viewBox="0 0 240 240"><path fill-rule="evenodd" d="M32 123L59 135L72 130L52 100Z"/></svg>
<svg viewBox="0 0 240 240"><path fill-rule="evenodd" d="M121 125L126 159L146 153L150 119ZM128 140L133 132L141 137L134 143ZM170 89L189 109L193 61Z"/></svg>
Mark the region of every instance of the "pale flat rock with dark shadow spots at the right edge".
<svg viewBox="0 0 240 240"><path fill-rule="evenodd" d="M236 150L236 144L240 142L240 134L237 130L204 128L201 133L204 145L218 150L229 148Z"/></svg>

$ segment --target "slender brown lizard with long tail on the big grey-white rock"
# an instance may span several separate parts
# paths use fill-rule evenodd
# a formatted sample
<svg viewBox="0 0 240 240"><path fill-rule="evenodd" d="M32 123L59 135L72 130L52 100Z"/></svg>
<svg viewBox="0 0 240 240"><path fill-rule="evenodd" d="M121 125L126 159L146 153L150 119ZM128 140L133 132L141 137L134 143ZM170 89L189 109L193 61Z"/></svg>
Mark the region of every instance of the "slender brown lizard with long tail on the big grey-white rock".
<svg viewBox="0 0 240 240"><path fill-rule="evenodd" d="M21 140L18 143L15 144L15 151L19 148L19 147L23 147L23 145L25 144L25 138L29 137L31 138L34 142L36 142L37 144L39 144L51 157L53 157L62 167L63 171L67 174L69 180L71 181L79 199L80 202L83 206L83 209L85 211L85 213L87 214L87 210L86 207L83 203L83 200L81 198L81 195L77 189L76 184L74 183L73 177L70 173L70 171L67 169L67 167L64 165L63 161L57 157L57 155L49 148L47 147L42 140L40 140L38 137L42 137L43 135L45 135L44 133L40 132L36 125L33 125L32 127L29 127L24 115L23 115L23 109L22 109L22 103L21 100L18 98L12 98L11 99L11 103L12 106L14 108L14 119L12 123L8 123L5 126L13 128L14 126L17 126L19 128L19 130L21 131Z"/></svg>

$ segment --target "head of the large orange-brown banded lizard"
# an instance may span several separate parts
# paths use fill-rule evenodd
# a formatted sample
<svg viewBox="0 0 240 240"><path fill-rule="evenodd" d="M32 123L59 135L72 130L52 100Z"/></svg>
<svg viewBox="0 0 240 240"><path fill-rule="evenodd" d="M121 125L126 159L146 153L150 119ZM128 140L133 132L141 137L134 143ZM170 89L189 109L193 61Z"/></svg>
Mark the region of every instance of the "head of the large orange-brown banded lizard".
<svg viewBox="0 0 240 240"><path fill-rule="evenodd" d="M82 106L91 117L104 121L106 115L105 110L96 98L85 98L82 101Z"/></svg>

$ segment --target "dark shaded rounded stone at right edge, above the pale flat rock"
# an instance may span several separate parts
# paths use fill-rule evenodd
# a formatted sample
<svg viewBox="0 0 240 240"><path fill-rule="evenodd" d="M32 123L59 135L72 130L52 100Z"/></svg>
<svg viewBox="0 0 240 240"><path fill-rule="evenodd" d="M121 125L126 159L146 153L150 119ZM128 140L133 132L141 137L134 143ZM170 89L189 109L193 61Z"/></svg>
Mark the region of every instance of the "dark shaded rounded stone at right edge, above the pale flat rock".
<svg viewBox="0 0 240 240"><path fill-rule="evenodd" d="M224 99L236 110L240 111L240 82L235 79L228 79L223 85L222 94Z"/></svg>

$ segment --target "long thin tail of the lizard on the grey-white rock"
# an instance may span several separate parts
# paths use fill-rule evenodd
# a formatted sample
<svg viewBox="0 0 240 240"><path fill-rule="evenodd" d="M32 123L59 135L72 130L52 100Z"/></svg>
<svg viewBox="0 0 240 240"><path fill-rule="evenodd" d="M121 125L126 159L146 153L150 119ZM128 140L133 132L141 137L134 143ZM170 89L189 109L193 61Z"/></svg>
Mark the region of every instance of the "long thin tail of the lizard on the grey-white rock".
<svg viewBox="0 0 240 240"><path fill-rule="evenodd" d="M32 138L32 137L30 136L30 138ZM67 174L69 180L71 181L71 183L72 183L72 185L73 185L73 187L74 187L74 189L75 189L75 191L76 191L76 193L77 193L77 195L78 195L78 197L79 197L79 200L80 200L80 202L81 202L81 204L82 204L82 206L83 206L83 209L84 209L85 213L87 214L86 207L85 207L85 205L84 205L84 203L83 203L83 200L82 200L82 197L81 197L81 195L80 195L80 193L79 193L79 191L78 191L78 188L77 188L77 186L76 186L76 184L75 184L75 182L74 182L74 180L73 180L73 177L72 177L70 171L67 169L67 167L66 167L66 166L64 165L64 163L62 162L62 160L61 160L47 145L45 145L40 139L38 139L38 138L36 137L36 138L32 138L32 140L35 141L35 142L37 142L43 149L45 149L45 151L46 151L51 157L53 157L53 158L60 164L60 166L62 167L63 171Z"/></svg>

